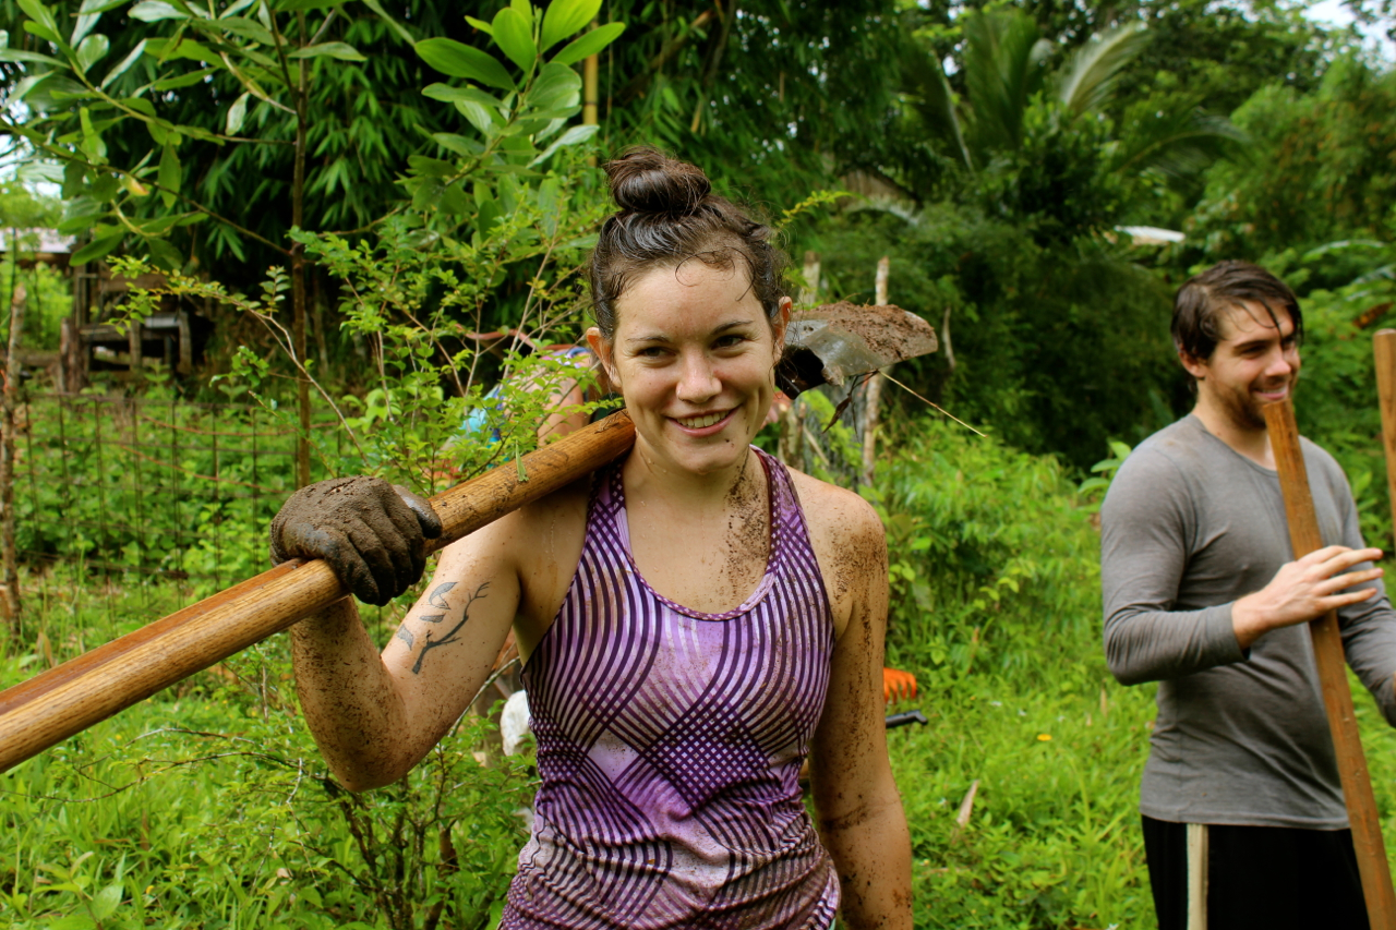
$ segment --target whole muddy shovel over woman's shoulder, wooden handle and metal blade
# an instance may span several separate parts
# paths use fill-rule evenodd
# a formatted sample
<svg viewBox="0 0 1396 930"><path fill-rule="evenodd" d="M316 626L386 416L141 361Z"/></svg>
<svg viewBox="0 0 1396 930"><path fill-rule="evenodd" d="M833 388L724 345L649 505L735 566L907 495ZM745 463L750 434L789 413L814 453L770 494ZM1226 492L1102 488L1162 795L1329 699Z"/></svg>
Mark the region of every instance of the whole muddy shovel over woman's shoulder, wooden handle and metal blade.
<svg viewBox="0 0 1396 930"><path fill-rule="evenodd" d="M792 314L778 381L790 397L935 350L898 307L833 304ZM431 499L436 549L570 485L625 452L624 411ZM292 560L0 691L0 771L105 721L348 596L320 560Z"/></svg>

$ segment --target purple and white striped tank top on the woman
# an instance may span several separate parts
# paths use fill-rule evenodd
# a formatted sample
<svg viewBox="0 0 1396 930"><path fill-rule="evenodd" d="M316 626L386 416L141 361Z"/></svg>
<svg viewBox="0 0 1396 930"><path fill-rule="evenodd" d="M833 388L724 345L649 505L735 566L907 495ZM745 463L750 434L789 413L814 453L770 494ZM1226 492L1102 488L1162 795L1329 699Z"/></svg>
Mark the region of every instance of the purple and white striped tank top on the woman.
<svg viewBox="0 0 1396 930"><path fill-rule="evenodd" d="M524 669L542 788L501 930L824 930L839 885L796 778L833 614L785 466L755 592L701 613L630 552L620 464L597 473L577 575Z"/></svg>

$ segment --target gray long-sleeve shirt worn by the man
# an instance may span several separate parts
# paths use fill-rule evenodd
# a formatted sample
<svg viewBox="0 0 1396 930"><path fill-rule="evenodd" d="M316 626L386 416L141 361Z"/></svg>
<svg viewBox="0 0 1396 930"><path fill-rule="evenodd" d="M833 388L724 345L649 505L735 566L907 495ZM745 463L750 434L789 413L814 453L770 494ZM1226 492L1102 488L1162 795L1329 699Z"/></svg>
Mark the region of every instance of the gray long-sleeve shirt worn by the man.
<svg viewBox="0 0 1396 930"><path fill-rule="evenodd" d="M1302 447L1323 542L1361 547L1342 468ZM1174 822L1347 827L1307 624L1248 652L1231 628L1231 605L1293 560L1277 475L1188 416L1125 459L1100 526L1110 670L1124 684L1159 681L1141 810ZM1375 586L1339 624L1349 665L1396 725L1396 613Z"/></svg>

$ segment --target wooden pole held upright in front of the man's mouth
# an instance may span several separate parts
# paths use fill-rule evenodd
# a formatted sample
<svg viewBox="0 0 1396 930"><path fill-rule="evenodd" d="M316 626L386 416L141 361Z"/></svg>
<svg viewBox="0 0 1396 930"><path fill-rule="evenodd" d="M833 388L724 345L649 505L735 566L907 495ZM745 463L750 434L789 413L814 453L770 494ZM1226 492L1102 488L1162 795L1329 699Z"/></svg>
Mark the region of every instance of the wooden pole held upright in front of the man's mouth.
<svg viewBox="0 0 1396 930"><path fill-rule="evenodd" d="M1270 448L1275 451L1275 465L1280 473L1290 545L1294 557L1301 559L1315 549L1322 549L1323 538L1314 512L1308 469L1304 466L1300 431L1294 423L1294 408L1290 401L1268 404L1265 425L1270 433ZM1357 849L1357 870L1362 877L1367 917L1372 930L1396 930L1396 895L1392 892L1390 867L1386 863L1386 846L1376 817L1372 781L1357 735L1357 718L1353 715L1353 693L1347 687L1337 613L1329 612L1312 621L1309 634L1314 637L1314 660L1323 691L1323 709L1328 711L1328 725L1333 732L1337 774L1343 781L1343 797L1347 802L1347 820L1353 827L1353 845Z"/></svg>

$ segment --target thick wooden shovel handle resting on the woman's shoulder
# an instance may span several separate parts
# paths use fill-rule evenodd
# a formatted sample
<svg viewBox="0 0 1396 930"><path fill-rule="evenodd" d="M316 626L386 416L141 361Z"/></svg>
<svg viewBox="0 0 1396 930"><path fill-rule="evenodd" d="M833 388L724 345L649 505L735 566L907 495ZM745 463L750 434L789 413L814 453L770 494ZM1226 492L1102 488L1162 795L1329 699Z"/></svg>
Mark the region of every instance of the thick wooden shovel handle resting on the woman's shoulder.
<svg viewBox="0 0 1396 930"><path fill-rule="evenodd" d="M624 411L431 499L447 546L596 471L635 441ZM279 633L349 592L292 560L0 691L0 772Z"/></svg>

